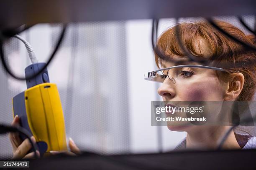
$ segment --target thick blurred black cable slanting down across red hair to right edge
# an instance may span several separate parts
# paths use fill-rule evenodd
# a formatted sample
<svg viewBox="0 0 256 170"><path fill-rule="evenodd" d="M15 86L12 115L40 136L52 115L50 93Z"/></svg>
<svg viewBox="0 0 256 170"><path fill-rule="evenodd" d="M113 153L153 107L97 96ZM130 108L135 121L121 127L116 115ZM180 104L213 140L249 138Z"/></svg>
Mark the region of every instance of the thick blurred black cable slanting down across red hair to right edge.
<svg viewBox="0 0 256 170"><path fill-rule="evenodd" d="M252 46L246 42L243 42L241 40L238 40L236 37L234 37L233 35L230 35L228 32L226 32L225 30L223 30L222 28L220 28L211 18L207 18L206 19L208 21L208 23L210 23L210 25L212 25L216 30L220 31L221 33L223 33L225 36L229 37L231 40L237 42L240 45L243 45L244 48L246 48L246 50L252 50L252 51L256 51L256 47Z"/></svg>

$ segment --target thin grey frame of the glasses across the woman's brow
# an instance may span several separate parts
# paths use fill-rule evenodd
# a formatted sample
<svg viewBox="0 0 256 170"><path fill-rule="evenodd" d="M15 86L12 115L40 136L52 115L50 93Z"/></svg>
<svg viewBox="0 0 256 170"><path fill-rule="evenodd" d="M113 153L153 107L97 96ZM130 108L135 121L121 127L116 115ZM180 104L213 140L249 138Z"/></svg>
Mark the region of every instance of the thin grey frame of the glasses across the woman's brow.
<svg viewBox="0 0 256 170"><path fill-rule="evenodd" d="M179 67L199 67L199 68L208 68L208 69L212 69L212 70L228 72L224 68L211 67L211 66L206 66L206 65L175 65L175 66L172 66L172 67L166 67L166 68L161 68L161 69L158 69L158 70L155 70L155 71L147 72L147 73L144 74L144 79L149 80L149 81L164 82L162 77L157 76L159 74L157 74L156 72L159 72L159 71L162 72L163 70L168 70L168 72L169 72L170 69L179 68ZM169 77L168 73L167 73L167 76ZM173 79L174 79L173 77L172 78L169 77L169 80L171 80L173 83L175 83L174 82L175 80L173 80Z"/></svg>

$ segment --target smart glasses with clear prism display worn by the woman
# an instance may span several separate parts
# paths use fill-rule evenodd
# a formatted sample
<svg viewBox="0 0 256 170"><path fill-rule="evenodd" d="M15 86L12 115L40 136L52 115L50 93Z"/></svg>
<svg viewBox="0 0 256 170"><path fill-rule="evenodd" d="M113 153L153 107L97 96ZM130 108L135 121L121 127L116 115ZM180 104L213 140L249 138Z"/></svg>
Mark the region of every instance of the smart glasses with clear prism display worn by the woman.
<svg viewBox="0 0 256 170"><path fill-rule="evenodd" d="M171 80L175 84L176 80L175 80L174 76L171 74L170 69L180 68L180 67L199 67L199 68L208 68L208 69L212 69L212 70L227 72L227 70L225 70L223 68L210 67L210 66L205 66L205 65L176 65L176 66L172 66L172 67L166 67L166 68L162 68L159 70L147 72L144 74L144 79L150 80L150 81L156 81L156 82L164 82L166 77L168 77L169 80ZM166 72L166 71L167 71L167 74L164 74L164 72ZM186 72L186 71L182 71L182 72Z"/></svg>

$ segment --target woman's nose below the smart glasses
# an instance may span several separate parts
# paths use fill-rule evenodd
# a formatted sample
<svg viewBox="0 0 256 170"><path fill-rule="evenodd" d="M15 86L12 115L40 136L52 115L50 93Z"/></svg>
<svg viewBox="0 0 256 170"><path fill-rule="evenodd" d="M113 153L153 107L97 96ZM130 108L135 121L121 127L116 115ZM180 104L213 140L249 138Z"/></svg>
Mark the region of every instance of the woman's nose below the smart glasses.
<svg viewBox="0 0 256 170"><path fill-rule="evenodd" d="M175 96L173 82L166 78L163 84L158 88L157 92L163 97L163 100L171 100Z"/></svg>

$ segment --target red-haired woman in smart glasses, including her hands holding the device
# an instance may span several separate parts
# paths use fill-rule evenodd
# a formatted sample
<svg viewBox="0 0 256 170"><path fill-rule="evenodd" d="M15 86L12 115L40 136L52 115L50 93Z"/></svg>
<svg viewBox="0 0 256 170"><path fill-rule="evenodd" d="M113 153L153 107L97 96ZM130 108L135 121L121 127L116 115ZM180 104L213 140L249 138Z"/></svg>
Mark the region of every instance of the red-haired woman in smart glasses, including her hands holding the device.
<svg viewBox="0 0 256 170"><path fill-rule="evenodd" d="M251 40L244 35L241 30L224 22L218 22L223 29L232 33L234 36L241 40L251 43ZM216 32L208 23L183 23L179 25L182 33L182 40L187 45L187 48L192 54L199 57L210 55L221 56L225 53L239 49L239 45L227 39L224 35ZM176 36L174 35L174 28L165 31L157 42L160 50L164 51L166 55L172 58L186 58L185 55L177 44ZM172 62L164 61L155 56L156 65L158 67L171 67L174 65ZM246 58L255 58L255 53L248 52L246 55L229 56L226 55L222 60L225 61L241 61ZM255 64L251 66L244 66L235 68L233 75L223 72L215 72L214 70L204 69L196 72L195 69L183 67L180 70L180 82L173 83L166 78L158 89L159 95L163 97L164 101L194 101L194 100L252 100L255 92L256 77L255 77ZM166 74L166 73L165 73ZM218 78L216 78L218 77ZM186 81L184 81L186 80ZM182 86L176 86L182 83ZM235 84L235 86L230 86ZM230 88L229 88L230 87ZM209 90L210 89L210 90ZM18 124L18 117L13 120L13 125ZM174 131L186 131L187 138L177 148L216 148L219 138L228 129L227 126L208 127L203 128L200 126L173 126L169 125L168 128ZM248 138L247 138L248 137ZM249 139L250 138L250 139ZM34 140L34 138L32 137ZM244 148L242 138L238 138L236 133L232 132L223 144L223 148L227 149L241 149ZM246 136L247 141L253 141L255 138ZM31 148L28 140L21 143L18 135L10 134L10 141L13 145L14 158L32 158L33 153L26 155ZM251 143L251 142L250 142ZM250 145L251 146L251 145ZM253 143L256 148L256 142ZM69 148L72 153L79 154L80 151L72 140L69 140ZM247 147L249 148L249 147ZM39 153L38 153L39 154Z"/></svg>

